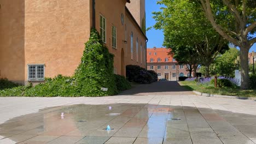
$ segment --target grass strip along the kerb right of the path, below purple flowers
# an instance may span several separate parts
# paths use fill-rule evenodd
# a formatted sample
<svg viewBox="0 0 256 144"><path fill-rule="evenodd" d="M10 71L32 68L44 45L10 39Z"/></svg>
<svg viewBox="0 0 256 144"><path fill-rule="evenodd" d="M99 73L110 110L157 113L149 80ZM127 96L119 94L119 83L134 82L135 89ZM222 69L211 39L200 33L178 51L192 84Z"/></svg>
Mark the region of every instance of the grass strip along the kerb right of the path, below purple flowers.
<svg viewBox="0 0 256 144"><path fill-rule="evenodd" d="M180 81L179 83L182 87L187 88L190 91L239 97L256 97L256 90L253 89L241 90L240 88L205 87L198 85L195 81Z"/></svg>

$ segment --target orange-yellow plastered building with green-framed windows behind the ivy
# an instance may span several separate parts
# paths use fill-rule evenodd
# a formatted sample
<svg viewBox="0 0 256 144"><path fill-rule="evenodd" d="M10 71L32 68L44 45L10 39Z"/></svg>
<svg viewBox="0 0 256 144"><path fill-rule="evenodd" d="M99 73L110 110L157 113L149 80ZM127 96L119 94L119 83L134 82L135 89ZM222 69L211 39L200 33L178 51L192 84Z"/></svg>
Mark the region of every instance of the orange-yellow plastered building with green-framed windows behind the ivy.
<svg viewBox="0 0 256 144"><path fill-rule="evenodd" d="M109 52L115 56L114 73L125 75L128 64L145 68L145 8L143 4L137 7L138 2L145 3L1 0L0 77L25 84L58 74L72 76L92 27L101 33Z"/></svg>

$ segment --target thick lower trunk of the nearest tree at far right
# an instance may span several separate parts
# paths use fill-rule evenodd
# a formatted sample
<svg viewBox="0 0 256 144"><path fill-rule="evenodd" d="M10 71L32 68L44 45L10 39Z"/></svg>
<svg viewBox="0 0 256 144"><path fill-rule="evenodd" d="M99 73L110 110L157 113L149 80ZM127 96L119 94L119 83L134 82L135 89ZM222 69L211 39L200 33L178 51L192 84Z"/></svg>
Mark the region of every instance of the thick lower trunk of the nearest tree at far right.
<svg viewBox="0 0 256 144"><path fill-rule="evenodd" d="M248 64L248 53L249 44L244 42L240 47L240 59L241 59L241 89L249 88L249 64Z"/></svg>

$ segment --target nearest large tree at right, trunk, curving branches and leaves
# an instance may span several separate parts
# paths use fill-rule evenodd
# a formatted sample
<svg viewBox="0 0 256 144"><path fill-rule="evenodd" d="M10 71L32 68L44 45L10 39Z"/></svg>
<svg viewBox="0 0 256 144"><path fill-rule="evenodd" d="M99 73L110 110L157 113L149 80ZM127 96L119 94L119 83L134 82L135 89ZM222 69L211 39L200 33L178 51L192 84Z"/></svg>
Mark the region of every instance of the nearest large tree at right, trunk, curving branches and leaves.
<svg viewBox="0 0 256 144"><path fill-rule="evenodd" d="M255 0L190 0L201 5L213 28L223 38L240 47L241 88L249 88L248 52L256 42Z"/></svg>

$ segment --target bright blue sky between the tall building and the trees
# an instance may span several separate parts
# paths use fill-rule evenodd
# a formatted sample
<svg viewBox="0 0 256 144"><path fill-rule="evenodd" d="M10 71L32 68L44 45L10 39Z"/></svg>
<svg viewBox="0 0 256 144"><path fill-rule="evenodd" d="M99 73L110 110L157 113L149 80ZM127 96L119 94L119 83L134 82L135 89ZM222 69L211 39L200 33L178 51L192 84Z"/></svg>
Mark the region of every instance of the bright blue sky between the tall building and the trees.
<svg viewBox="0 0 256 144"><path fill-rule="evenodd" d="M156 4L158 0L146 0L146 25L147 27L154 26L155 20L153 19L153 11L159 11L160 5ZM164 34L161 30L155 30L154 28L147 31L147 37L148 37L148 43L147 47L163 47L162 42L164 41ZM254 37L256 37L256 34L254 34ZM256 51L256 44L254 44L251 49L251 51Z"/></svg>

